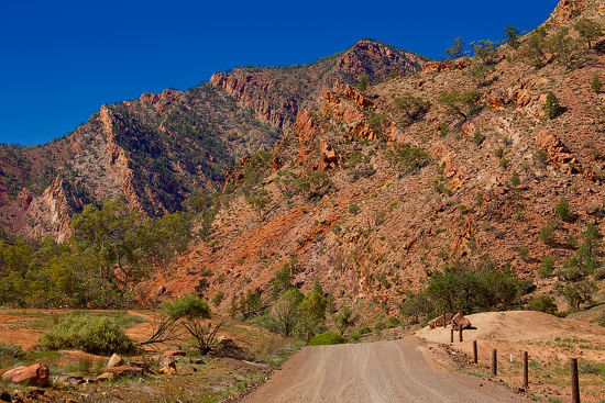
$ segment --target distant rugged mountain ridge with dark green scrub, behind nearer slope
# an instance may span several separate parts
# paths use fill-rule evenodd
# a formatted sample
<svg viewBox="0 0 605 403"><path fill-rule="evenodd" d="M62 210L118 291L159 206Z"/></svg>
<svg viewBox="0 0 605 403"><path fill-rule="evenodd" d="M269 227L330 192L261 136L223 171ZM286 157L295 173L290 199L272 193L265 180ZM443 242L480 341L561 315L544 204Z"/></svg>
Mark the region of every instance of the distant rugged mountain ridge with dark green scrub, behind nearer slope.
<svg viewBox="0 0 605 403"><path fill-rule="evenodd" d="M314 64L238 68L187 91L103 105L40 147L0 147L0 225L18 236L68 236L82 205L120 197L157 216L196 189L218 190L226 169L271 149L300 105L337 80L416 71L424 58L371 41Z"/></svg>

